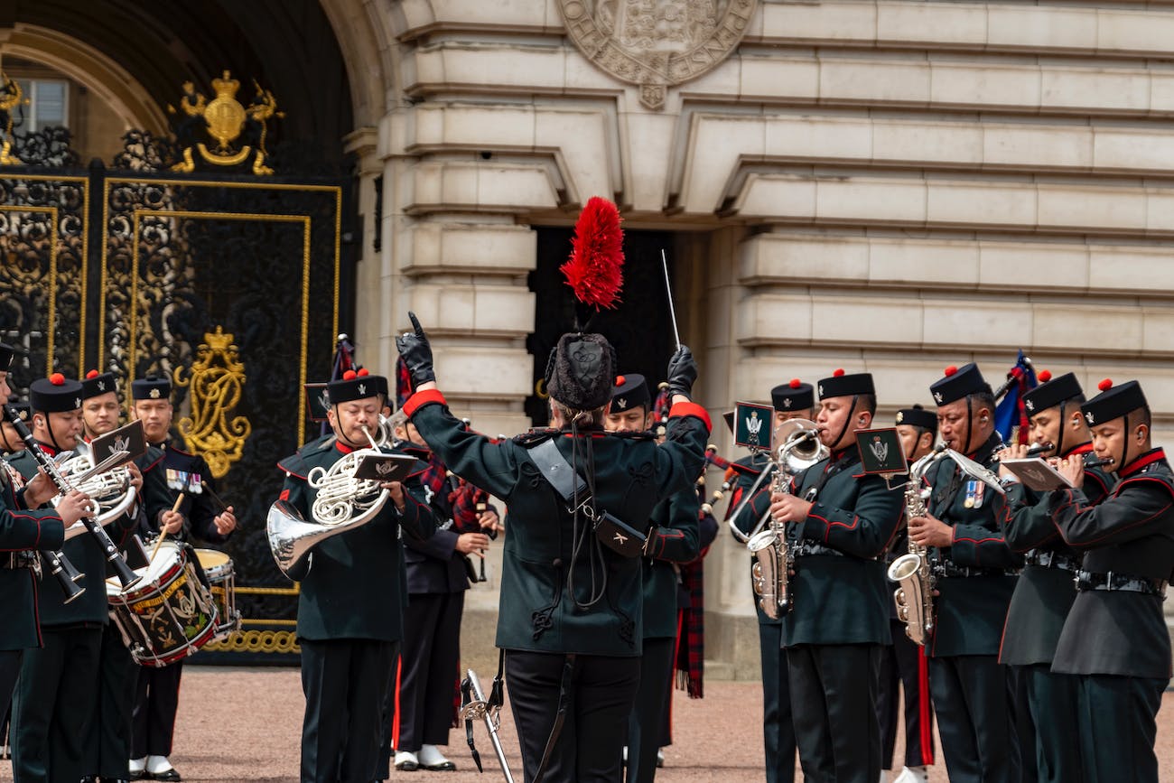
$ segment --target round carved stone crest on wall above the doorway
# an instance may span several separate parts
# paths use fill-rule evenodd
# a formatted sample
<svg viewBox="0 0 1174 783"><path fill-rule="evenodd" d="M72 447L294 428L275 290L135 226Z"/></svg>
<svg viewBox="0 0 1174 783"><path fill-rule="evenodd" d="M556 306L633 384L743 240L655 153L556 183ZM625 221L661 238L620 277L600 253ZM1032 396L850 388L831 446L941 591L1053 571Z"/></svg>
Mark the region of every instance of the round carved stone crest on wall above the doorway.
<svg viewBox="0 0 1174 783"><path fill-rule="evenodd" d="M599 68L640 85L640 102L715 68L737 47L757 0L559 0L571 40Z"/></svg>

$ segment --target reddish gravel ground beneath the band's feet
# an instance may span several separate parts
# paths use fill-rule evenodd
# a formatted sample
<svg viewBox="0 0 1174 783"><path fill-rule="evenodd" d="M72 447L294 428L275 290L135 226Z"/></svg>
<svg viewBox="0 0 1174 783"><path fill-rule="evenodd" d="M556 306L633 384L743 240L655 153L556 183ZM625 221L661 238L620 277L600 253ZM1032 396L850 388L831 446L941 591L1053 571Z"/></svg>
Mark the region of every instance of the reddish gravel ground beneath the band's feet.
<svg viewBox="0 0 1174 783"><path fill-rule="evenodd" d="M485 674L488 679L488 673ZM675 744L666 750L667 764L656 779L763 781L758 686L747 682L707 682L703 700L674 695ZM183 673L180 717L171 762L184 781L292 783L297 781L302 686L297 669L188 666ZM1158 716L1161 778L1174 779L1174 694L1167 693ZM518 783L521 762L518 740L502 710L502 742ZM486 760L477 775L464 744L464 730L453 731L450 756L457 772L393 772L393 781L501 781L492 747L478 727L478 749ZM459 743L459 744L457 744ZM898 750L899 754L899 750ZM11 781L8 762L0 762L0 781ZM801 776L797 779L802 779ZM931 779L945 783L944 769Z"/></svg>

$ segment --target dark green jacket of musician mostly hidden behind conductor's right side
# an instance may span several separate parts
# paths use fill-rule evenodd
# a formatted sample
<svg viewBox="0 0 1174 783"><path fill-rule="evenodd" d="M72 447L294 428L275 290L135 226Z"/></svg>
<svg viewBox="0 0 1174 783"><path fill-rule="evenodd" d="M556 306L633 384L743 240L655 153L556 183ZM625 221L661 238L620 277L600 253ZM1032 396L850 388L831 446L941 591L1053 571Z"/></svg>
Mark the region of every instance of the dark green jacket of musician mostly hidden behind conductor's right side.
<svg viewBox="0 0 1174 783"><path fill-rule="evenodd" d="M653 508L649 558L643 558L645 639L676 636L676 563L701 554L701 501L693 487Z"/></svg>

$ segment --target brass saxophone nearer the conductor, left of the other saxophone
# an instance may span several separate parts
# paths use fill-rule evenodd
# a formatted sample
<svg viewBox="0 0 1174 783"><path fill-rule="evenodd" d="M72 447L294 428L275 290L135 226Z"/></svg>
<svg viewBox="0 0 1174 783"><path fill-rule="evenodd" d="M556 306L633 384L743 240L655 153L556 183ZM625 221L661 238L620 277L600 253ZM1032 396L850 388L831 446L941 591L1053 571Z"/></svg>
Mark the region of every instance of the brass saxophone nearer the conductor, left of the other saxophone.
<svg viewBox="0 0 1174 783"><path fill-rule="evenodd" d="M819 430L807 419L784 421L777 434L782 445L770 459L775 466L775 474L770 477L771 494L789 492L791 479L797 473L826 459L829 453L819 441ZM789 572L792 554L787 545L785 525L776 521L769 511L763 518L765 520L769 520L767 527L751 535L745 548L755 559L750 574L758 606L768 617L778 620L791 609Z"/></svg>

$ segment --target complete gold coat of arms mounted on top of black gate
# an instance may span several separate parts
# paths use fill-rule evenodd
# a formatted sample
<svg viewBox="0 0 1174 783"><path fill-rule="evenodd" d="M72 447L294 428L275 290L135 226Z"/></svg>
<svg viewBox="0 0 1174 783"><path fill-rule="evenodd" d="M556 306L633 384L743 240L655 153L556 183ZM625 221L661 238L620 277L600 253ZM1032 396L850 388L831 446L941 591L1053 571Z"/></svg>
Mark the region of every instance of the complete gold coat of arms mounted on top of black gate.
<svg viewBox="0 0 1174 783"><path fill-rule="evenodd" d="M190 144L189 142L194 140L185 139L184 136L188 136L189 133L181 130L178 134L180 143L188 146L183 149L183 160L173 166L171 170L184 174L194 171L196 163L193 148L195 148L204 161L214 166L239 166L255 154L252 173L256 175L272 174L274 170L265 166L265 157L269 155L265 150L265 136L269 131L266 122L274 117L285 116L283 112L277 110L277 99L271 92L262 89L257 80L254 79L252 89L256 94L249 106L243 106L241 101L236 100L241 82L232 79L228 70L223 72L221 79L212 80L212 89L216 92L216 97L209 101L203 93L196 92L193 82L184 82L180 109L189 117L182 123L182 127L198 128L202 120L208 135L216 142L215 149L208 149L208 146L202 141ZM169 104L167 108L169 113L176 114L174 106ZM256 148L242 143L237 149L235 143L245 130L245 126L250 123L250 130L254 130L256 136Z"/></svg>

